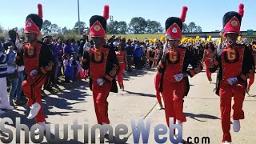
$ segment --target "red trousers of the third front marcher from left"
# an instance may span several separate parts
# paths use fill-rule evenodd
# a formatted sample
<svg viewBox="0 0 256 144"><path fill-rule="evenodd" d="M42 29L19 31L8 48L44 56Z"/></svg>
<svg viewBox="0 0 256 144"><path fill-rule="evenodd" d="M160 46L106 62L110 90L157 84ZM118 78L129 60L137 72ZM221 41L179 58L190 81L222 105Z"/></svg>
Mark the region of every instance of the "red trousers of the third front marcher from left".
<svg viewBox="0 0 256 144"><path fill-rule="evenodd" d="M165 103L166 122L169 126L169 118L186 122L186 117L183 114L183 98L185 94L185 80L181 82L170 82L163 78L163 101Z"/></svg>

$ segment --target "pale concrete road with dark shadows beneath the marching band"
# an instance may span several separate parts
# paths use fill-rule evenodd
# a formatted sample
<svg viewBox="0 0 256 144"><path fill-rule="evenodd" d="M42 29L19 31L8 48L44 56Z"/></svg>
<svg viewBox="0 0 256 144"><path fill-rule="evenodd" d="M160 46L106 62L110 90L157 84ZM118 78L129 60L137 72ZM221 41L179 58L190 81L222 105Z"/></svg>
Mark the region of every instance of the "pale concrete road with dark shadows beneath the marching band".
<svg viewBox="0 0 256 144"><path fill-rule="evenodd" d="M148 143L156 143L154 141L154 126L164 124L165 115L164 110L158 110L157 99L154 96L154 74L155 70L134 70L133 73L126 74L125 76L125 91L119 91L118 94L110 94L108 98L110 124L115 128L118 124L125 124L128 127L128 134L121 136L121 138L128 138L126 143L134 143L134 137L131 129L131 118L134 118L136 125L138 120L142 118L146 123L150 120L150 134ZM216 78L216 74L213 74ZM129 81L128 81L129 80ZM209 84L206 80L204 72L190 78L190 93L185 98L184 113L186 114L187 122L183 125L183 141L186 143L187 138L191 137L190 142L199 140L202 143L203 137L209 137L210 143L221 143L222 129L219 112L219 99L213 93L214 84ZM48 92L49 94L44 99L46 121L51 126L51 136L56 138L57 133L54 132L54 125L59 124L60 138L64 137L64 124L69 124L67 133L67 142L75 143L74 132L71 130L71 124L78 120L78 125L89 126L89 142L91 142L90 128L97 122L94 114L94 103L91 91L88 88L88 82L82 81L76 84L60 86L59 92ZM241 131L234 133L231 126L231 135L233 142L236 144L254 143L256 140L256 88L252 86L250 94L246 96L243 109L245 111L246 119L241 121ZM6 111L2 114L1 118L11 118L14 124L6 125L6 128L14 131L14 140L10 143L16 143L15 134L15 118L21 118L21 123L27 126L32 126L34 120L27 120L26 116L29 113L26 107L18 107L14 111ZM87 120L86 120L87 119ZM86 126L85 125L85 126ZM84 142L84 128L78 130L78 142ZM2 138L8 138L8 134L0 133ZM96 133L98 135L98 131ZM169 134L169 133L168 133ZM166 143L171 143L168 134L163 136L167 137ZM24 131L21 131L21 143L24 143ZM163 136L160 136L162 138ZM38 138L38 137L36 137ZM29 138L30 139L30 138ZM109 142L105 139L105 142ZM146 141L144 141L146 142ZM30 143L31 142L30 140ZM42 143L48 143L46 137ZM96 138L96 143L99 139ZM142 142L142 136L140 141Z"/></svg>

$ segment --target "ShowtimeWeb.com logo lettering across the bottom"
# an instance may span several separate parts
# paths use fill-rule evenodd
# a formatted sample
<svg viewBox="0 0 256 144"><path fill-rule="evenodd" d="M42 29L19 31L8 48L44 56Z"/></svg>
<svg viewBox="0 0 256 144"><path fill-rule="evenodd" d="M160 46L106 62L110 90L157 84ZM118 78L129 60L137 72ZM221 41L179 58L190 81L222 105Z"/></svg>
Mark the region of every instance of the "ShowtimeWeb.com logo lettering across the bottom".
<svg viewBox="0 0 256 144"><path fill-rule="evenodd" d="M138 123L136 125L135 119L130 119L131 123L131 130L134 138L134 143L148 143L149 136L150 136L150 126L151 126L151 120L146 119L146 123L141 118L138 120ZM178 124L173 124L174 118L170 118L170 127L169 127L169 141L168 138L165 137L165 135L168 133L168 127L164 124L158 124L154 127L154 141L157 143L179 143L182 142L182 127ZM9 125L15 125L16 131L12 131L8 128L6 128L6 124ZM44 140L44 137L46 137L46 141L49 143L63 143L68 141L68 134L69 134L69 125L64 124L63 125L63 138L59 137L59 124L54 125L54 138L51 137L51 126L50 124L46 124L46 133L44 134L42 126L38 124L34 124L31 126L30 130L29 127L25 124L21 124L20 118L16 118L16 123L12 121L10 118L2 118L0 121L0 130L2 133L4 133L5 137L0 136L0 140L2 143L11 143L14 139L14 133L15 133L15 139L16 143L21 143L21 130L25 131L25 143L29 143L32 141L33 143L41 143ZM73 139L74 142L78 142L78 130L79 134L81 134L81 130L83 127L83 142L89 143L89 124L88 119L85 120L85 124L78 125L78 120L74 120L74 123L71 124L71 130L73 130ZM40 133L38 135L34 134L34 131L36 129L40 130ZM178 130L178 138L174 138L174 130ZM128 138L126 137L128 134L128 126L124 124L118 124L114 129L110 125L94 125L90 129L90 143L95 143L95 133L96 130L100 130L101 138L100 142L104 143L104 131L108 130L108 140L110 143L126 143L128 141ZM114 131L114 132L113 132ZM140 142L140 137L142 135L142 142ZM120 138L122 136L122 138ZM24 135L22 135L24 137ZM160 138L162 137L162 138ZM81 142L81 141L80 141ZM193 139L191 137L187 138L188 143L192 143ZM199 143L199 138L194 138L193 143ZM202 142L200 143L210 143L210 138L204 137L202 138Z"/></svg>

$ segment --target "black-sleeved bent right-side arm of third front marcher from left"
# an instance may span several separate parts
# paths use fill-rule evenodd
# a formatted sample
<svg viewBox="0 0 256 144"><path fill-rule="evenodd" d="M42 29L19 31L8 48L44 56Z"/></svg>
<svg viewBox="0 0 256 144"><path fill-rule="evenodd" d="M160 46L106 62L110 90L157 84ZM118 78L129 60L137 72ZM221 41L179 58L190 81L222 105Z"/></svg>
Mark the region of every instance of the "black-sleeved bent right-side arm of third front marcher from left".
<svg viewBox="0 0 256 144"><path fill-rule="evenodd" d="M194 58L189 50L186 50L185 58L188 58L190 65L192 66L190 70L186 71L186 74L190 75L191 78L202 71L202 63L197 58Z"/></svg>

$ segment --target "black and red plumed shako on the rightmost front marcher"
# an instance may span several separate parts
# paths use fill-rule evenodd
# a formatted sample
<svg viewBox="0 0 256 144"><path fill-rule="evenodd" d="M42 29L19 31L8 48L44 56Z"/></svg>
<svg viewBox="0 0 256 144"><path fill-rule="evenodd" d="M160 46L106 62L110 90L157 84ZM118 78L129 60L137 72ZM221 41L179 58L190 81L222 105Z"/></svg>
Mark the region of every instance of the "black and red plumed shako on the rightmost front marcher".
<svg viewBox="0 0 256 144"><path fill-rule="evenodd" d="M243 4L239 4L238 12L230 11L224 14L222 23L223 23L223 36L226 37L226 34L228 33L237 33L240 34L240 27L243 17L243 10L244 6Z"/></svg>

